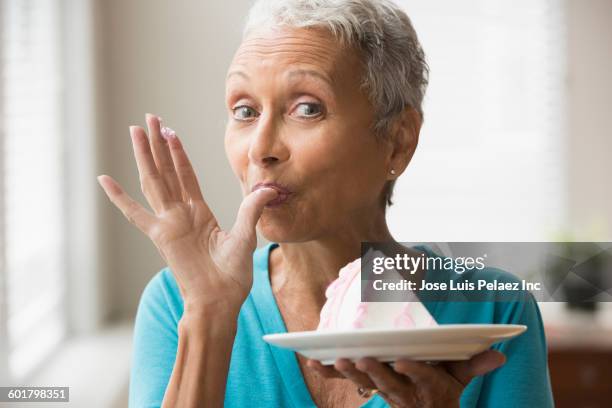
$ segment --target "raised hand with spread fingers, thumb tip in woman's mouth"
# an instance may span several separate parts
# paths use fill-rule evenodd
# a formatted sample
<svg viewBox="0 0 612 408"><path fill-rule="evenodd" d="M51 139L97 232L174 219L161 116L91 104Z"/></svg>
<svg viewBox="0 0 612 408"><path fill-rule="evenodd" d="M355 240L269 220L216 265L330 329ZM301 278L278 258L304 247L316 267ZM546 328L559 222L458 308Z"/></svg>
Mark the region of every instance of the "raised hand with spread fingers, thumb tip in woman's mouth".
<svg viewBox="0 0 612 408"><path fill-rule="evenodd" d="M130 134L141 189L153 212L111 177L101 175L98 181L128 221L153 241L177 280L185 311L211 304L238 310L253 284L257 221L277 192L263 188L248 194L232 229L221 230L174 131L162 128L157 116L148 114L146 121L150 140L139 126L131 126Z"/></svg>

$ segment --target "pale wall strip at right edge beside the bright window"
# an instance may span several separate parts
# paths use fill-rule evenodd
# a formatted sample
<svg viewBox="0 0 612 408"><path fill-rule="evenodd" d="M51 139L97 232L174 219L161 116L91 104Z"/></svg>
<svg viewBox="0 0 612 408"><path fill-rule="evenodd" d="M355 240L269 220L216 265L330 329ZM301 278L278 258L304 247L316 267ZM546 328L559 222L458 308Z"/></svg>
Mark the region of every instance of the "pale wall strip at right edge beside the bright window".
<svg viewBox="0 0 612 408"><path fill-rule="evenodd" d="M596 239L610 240L612 1L568 0L567 14L570 216Z"/></svg>

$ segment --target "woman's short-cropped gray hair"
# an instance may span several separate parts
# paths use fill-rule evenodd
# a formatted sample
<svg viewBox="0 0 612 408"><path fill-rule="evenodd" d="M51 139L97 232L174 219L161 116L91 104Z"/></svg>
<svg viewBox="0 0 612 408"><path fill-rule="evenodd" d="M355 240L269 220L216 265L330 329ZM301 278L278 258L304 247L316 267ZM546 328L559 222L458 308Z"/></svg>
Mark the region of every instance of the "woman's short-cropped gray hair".
<svg viewBox="0 0 612 408"><path fill-rule="evenodd" d="M374 106L377 138L388 135L397 115L412 107L423 117L429 68L406 13L389 0L257 0L243 37L257 28L327 28L364 63L362 89ZM392 205L395 180L387 182L383 206Z"/></svg>

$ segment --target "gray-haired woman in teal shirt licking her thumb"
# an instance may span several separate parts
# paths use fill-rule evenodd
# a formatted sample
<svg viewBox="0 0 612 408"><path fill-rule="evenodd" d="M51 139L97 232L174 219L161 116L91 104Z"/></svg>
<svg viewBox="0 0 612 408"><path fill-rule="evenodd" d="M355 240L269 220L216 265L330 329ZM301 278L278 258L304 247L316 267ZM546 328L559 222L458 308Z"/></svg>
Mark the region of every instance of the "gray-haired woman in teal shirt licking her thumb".
<svg viewBox="0 0 612 408"><path fill-rule="evenodd" d="M225 147L244 194L229 231L176 134L154 115L148 136L130 128L153 212L99 181L168 265L140 301L130 406L551 405L533 301L432 310L440 323L528 324L460 363L324 367L261 339L314 330L360 243L394 241L385 209L417 146L426 84L410 20L390 2L257 2L226 78ZM257 250L256 227L272 242Z"/></svg>

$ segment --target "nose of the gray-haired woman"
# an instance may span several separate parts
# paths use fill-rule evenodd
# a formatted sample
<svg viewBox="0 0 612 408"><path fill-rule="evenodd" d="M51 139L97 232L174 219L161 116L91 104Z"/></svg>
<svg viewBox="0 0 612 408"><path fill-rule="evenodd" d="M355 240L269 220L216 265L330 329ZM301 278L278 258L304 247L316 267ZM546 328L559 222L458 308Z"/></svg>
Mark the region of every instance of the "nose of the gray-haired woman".
<svg viewBox="0 0 612 408"><path fill-rule="evenodd" d="M280 124L271 116L261 115L251 135L249 160L260 167L273 166L287 160L288 149L280 134Z"/></svg>

